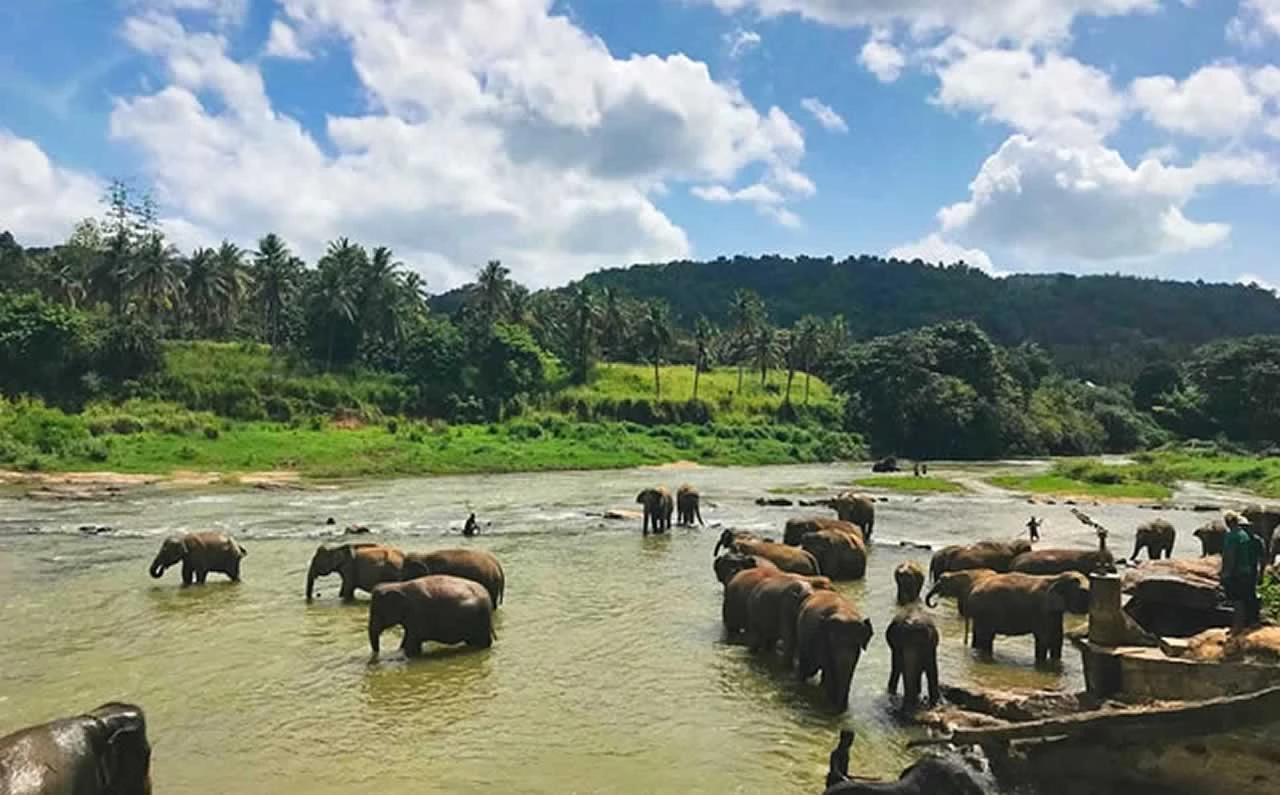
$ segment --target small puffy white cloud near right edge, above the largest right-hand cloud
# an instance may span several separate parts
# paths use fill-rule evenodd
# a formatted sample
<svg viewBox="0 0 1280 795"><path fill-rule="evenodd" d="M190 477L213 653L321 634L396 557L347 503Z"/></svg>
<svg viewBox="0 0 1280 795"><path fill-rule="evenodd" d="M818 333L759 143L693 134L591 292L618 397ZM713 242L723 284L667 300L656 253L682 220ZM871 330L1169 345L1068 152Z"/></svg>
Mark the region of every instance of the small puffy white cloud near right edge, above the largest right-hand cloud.
<svg viewBox="0 0 1280 795"><path fill-rule="evenodd" d="M1266 84L1268 77L1262 81ZM1203 67L1183 82L1169 76L1138 78L1130 95L1153 124L1188 136L1234 137L1262 118L1262 99L1249 74L1228 64Z"/></svg>

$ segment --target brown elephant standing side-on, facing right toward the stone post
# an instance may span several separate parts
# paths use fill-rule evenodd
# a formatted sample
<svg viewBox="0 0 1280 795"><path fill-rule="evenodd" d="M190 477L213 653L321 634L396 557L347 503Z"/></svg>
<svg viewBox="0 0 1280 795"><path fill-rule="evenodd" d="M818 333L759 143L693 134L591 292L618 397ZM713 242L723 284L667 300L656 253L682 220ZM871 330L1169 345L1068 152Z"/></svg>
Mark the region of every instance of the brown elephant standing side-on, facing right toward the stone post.
<svg viewBox="0 0 1280 795"><path fill-rule="evenodd" d="M974 649L991 654L996 635L1034 635L1036 663L1062 658L1062 614L1089 609L1089 581L1076 572L997 574L975 582L965 604Z"/></svg>

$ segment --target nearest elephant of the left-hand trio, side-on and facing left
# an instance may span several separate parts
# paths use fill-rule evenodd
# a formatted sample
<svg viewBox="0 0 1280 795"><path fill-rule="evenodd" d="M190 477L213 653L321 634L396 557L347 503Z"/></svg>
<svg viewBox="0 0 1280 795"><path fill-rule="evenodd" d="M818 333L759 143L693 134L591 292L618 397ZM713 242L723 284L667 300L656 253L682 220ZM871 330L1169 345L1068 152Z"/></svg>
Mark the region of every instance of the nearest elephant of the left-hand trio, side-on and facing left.
<svg viewBox="0 0 1280 795"><path fill-rule="evenodd" d="M369 602L369 648L374 659L383 631L392 626L404 629L404 657L420 657L428 640L488 649L494 641L493 602L484 585L453 575L379 582Z"/></svg>

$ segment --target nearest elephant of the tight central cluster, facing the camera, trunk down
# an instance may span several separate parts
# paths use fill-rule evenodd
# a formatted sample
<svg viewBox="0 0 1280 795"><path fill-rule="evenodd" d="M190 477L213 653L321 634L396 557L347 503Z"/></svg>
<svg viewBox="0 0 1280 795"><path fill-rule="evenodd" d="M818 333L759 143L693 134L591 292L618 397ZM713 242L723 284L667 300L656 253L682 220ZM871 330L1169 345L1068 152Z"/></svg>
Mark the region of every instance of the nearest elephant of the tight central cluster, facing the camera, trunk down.
<svg viewBox="0 0 1280 795"><path fill-rule="evenodd" d="M796 616L800 679L808 680L820 671L827 704L844 712L849 708L849 687L858 659L874 634L870 618L863 618L842 594L815 590Z"/></svg>

